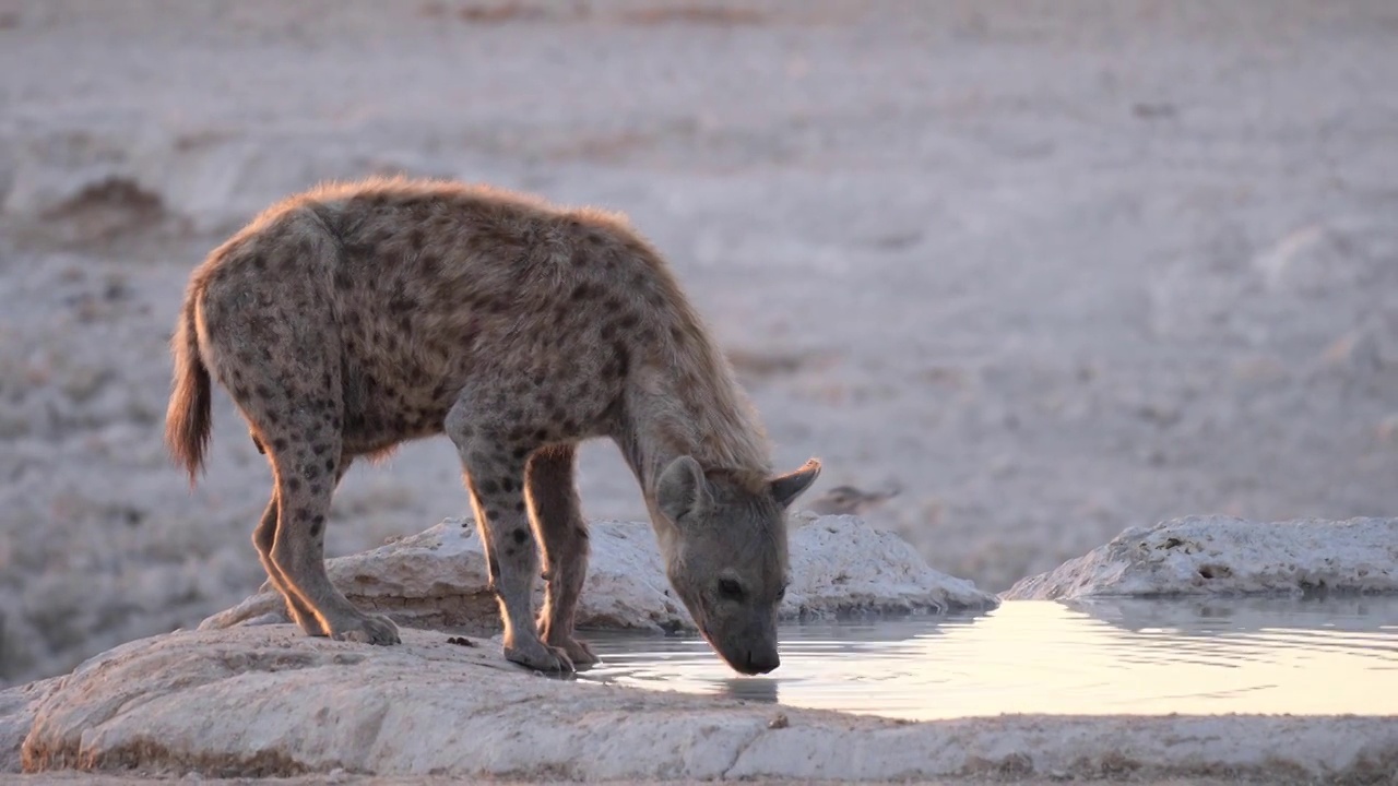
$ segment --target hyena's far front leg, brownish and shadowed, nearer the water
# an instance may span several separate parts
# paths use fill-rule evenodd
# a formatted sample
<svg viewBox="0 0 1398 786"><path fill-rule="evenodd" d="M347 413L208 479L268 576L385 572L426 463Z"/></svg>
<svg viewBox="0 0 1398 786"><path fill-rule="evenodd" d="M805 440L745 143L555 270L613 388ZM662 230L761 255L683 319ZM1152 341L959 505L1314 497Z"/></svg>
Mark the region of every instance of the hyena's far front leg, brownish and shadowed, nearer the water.
<svg viewBox="0 0 1398 786"><path fill-rule="evenodd" d="M573 666L590 666L597 663L597 656L573 636L573 614L587 578L590 545L573 480L576 463L573 445L540 448L530 456L526 484L548 580L538 632L544 643L562 649Z"/></svg>

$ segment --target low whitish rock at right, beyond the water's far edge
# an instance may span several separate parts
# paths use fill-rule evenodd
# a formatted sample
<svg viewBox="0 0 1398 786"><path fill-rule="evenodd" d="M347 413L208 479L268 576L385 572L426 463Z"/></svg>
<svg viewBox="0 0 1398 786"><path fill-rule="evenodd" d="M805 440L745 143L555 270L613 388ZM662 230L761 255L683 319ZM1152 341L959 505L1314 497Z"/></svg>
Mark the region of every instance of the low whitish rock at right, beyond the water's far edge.
<svg viewBox="0 0 1398 786"><path fill-rule="evenodd" d="M1132 527L1005 600L1398 592L1398 519L1262 523L1190 516Z"/></svg>

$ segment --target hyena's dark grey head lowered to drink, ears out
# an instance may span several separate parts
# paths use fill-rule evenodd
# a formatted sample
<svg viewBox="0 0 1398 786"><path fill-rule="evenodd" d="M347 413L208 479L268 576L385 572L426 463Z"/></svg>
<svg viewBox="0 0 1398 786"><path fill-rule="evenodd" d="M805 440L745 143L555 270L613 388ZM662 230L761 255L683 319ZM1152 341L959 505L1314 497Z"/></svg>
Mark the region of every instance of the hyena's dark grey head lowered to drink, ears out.
<svg viewBox="0 0 1398 786"><path fill-rule="evenodd" d="M777 607L787 585L786 512L815 481L815 459L752 491L689 456L660 474L653 515L670 585L728 666L766 674L777 656Z"/></svg>

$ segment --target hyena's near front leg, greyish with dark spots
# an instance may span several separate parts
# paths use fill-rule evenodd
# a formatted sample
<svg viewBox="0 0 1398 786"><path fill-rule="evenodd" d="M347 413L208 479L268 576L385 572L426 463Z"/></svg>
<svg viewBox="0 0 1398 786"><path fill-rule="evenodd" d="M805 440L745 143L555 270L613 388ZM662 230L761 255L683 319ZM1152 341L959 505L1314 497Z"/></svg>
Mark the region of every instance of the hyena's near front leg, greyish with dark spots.
<svg viewBox="0 0 1398 786"><path fill-rule="evenodd" d="M452 407L446 432L461 455L491 587L500 603L505 657L540 671L572 671L568 655L545 645L534 627L538 550L524 502L524 459L534 445L506 436L519 434L517 427L499 428L487 420L489 415L477 418L471 399Z"/></svg>

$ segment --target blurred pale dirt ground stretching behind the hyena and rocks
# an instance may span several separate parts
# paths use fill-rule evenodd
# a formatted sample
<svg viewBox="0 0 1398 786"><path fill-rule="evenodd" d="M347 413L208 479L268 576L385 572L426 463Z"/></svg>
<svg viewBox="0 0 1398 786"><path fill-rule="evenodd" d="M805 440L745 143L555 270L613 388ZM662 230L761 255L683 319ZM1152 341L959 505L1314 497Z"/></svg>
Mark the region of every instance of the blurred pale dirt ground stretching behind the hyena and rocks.
<svg viewBox="0 0 1398 786"><path fill-rule="evenodd" d="M323 178L632 215L783 467L1001 590L1186 513L1398 510L1398 4L0 0L0 685L261 582L226 397L161 445L189 270ZM642 517L615 449L593 516ZM333 554L466 508L347 478Z"/></svg>

